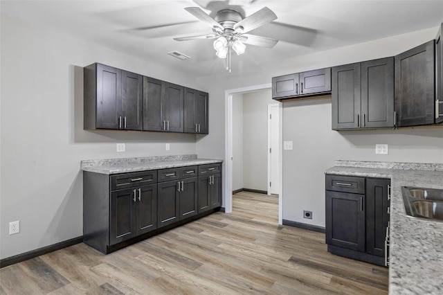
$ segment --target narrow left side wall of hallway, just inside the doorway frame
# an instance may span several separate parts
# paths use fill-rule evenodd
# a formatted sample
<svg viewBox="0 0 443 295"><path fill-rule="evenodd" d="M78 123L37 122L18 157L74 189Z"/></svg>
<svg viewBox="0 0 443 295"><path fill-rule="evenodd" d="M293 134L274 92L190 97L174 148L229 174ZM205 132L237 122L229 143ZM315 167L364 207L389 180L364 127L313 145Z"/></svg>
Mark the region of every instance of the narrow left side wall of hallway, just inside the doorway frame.
<svg viewBox="0 0 443 295"><path fill-rule="evenodd" d="M243 94L233 95L233 190L243 183Z"/></svg>

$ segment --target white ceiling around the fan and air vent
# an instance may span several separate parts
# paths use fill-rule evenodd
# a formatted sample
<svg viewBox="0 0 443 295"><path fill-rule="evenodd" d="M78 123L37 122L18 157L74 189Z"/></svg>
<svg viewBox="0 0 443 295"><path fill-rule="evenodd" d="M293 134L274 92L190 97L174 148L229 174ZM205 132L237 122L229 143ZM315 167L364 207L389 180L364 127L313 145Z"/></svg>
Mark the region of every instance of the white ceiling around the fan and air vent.
<svg viewBox="0 0 443 295"><path fill-rule="evenodd" d="M183 8L199 6L211 16L233 8L244 16L267 6L278 19L250 33L280 39L273 48L247 46L233 56L242 73L260 63L272 63L329 48L368 42L443 21L443 0L434 1L269 1L269 0L149 0L149 1L1 1L1 13L53 26L81 39L144 60L159 62L195 76L223 73L210 39L178 42L173 37L212 33ZM437 33L437 32L435 32ZM167 55L179 51L181 61Z"/></svg>

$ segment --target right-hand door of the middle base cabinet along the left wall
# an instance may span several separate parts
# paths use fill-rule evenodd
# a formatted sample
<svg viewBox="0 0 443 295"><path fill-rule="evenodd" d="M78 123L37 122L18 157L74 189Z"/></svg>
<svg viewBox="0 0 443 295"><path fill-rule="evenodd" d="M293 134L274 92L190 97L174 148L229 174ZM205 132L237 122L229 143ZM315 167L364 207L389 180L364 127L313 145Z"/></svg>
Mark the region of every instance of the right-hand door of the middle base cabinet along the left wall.
<svg viewBox="0 0 443 295"><path fill-rule="evenodd" d="M181 180L180 220L197 214L197 177Z"/></svg>

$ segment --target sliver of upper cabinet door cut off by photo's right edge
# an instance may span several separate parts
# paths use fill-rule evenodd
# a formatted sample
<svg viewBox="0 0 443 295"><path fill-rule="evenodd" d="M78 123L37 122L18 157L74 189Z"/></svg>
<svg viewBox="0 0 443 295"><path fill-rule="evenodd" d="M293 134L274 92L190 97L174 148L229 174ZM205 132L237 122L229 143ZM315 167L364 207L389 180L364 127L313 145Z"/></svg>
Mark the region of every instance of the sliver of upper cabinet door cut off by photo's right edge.
<svg viewBox="0 0 443 295"><path fill-rule="evenodd" d="M443 24L435 38L435 123L443 122Z"/></svg>

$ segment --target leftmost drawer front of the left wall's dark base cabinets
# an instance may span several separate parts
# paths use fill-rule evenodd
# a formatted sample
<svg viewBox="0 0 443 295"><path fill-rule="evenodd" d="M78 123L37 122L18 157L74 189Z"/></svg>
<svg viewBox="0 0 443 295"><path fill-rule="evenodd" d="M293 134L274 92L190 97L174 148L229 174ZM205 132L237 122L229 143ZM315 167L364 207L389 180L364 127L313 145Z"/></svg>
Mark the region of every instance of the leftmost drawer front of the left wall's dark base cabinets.
<svg viewBox="0 0 443 295"><path fill-rule="evenodd" d="M157 170L111 175L111 190L156 184Z"/></svg>

